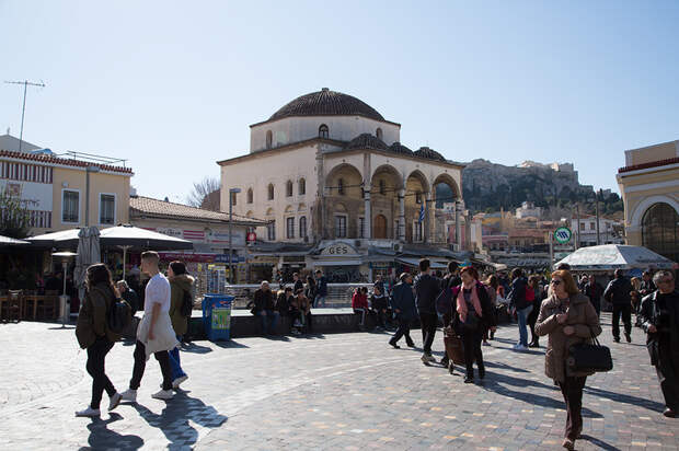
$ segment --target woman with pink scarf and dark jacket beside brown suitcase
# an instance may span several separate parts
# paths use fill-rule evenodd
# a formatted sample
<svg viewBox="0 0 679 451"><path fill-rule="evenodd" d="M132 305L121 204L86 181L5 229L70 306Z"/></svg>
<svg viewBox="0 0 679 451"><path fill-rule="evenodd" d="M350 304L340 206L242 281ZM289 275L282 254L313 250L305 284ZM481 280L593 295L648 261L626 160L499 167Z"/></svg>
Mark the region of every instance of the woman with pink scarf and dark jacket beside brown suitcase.
<svg viewBox="0 0 679 451"><path fill-rule="evenodd" d="M481 339L487 327L495 332L496 322L488 293L479 281L479 273L471 266L460 271L462 284L452 289L456 311L452 320L453 328L462 336L464 344L464 362L467 377L464 383L474 382L474 361L479 368L479 378L485 378Z"/></svg>

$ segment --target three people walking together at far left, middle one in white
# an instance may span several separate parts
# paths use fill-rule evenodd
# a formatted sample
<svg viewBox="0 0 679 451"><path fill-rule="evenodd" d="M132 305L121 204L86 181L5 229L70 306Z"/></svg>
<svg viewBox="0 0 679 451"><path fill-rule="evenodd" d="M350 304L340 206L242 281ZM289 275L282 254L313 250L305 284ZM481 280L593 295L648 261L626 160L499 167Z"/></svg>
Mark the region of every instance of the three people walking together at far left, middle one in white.
<svg viewBox="0 0 679 451"><path fill-rule="evenodd" d="M179 261L170 263L165 277L160 271L156 252L141 254L141 271L149 279L143 302L139 303L139 298L127 282L113 284L105 264L92 265L87 270L85 296L78 315L76 336L80 347L88 352L85 368L92 377L92 398L87 408L76 412L76 416L100 416L104 391L110 397L108 412L122 401L136 402L137 389L151 355L159 362L162 373L161 390L152 397L172 398L173 390L188 379L182 369L179 344L187 332L194 302L194 278L186 273L185 264ZM129 388L119 393L106 375L104 362L123 335L117 326L125 320L131 322L135 309L143 309L143 315L136 327Z"/></svg>

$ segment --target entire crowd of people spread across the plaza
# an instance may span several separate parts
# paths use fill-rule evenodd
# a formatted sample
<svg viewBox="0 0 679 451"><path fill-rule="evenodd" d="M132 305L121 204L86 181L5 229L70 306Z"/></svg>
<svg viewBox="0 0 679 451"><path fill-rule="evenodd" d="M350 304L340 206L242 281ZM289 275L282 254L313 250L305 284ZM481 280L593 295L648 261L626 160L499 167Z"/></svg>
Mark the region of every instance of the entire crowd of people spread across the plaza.
<svg viewBox="0 0 679 451"><path fill-rule="evenodd" d="M187 316L182 304L191 298L194 279L186 274L181 262L172 262L168 277L160 273L158 254L146 252L141 256L141 270L149 276L143 302L125 281L115 286L111 273L103 264L93 265L87 273L87 291L78 319L76 334L80 346L88 351L87 370L91 374L92 400L78 416L99 416L100 403L105 391L110 396L108 410L120 401L135 402L141 383L146 361L152 354L163 377L161 390L152 396L169 400L173 389L187 379L181 368L179 343L187 331ZM464 382L485 378L483 345L495 338L498 317L516 317L518 337L515 351L540 347L540 337L546 336L545 374L561 389L566 406L566 425L563 447L573 449L583 429L583 389L594 370L575 369L569 360L572 346L591 340L601 334L599 316L602 300L612 305L612 337L620 343L620 320L625 340L632 340L632 313L635 325L647 334L651 363L655 367L665 397L664 415L675 417L679 408L679 292L672 273L644 271L641 279L625 277L615 270L614 277L603 288L591 274L573 275L563 265L550 275L526 275L515 268L509 277L487 275L482 278L472 266L460 268L450 262L447 274L433 274L430 262L419 261L418 274L403 273L389 289L377 278L371 290L358 287L352 297L352 308L359 316L358 323L367 327L368 319L378 332L392 332L389 345L415 348L411 326L418 321L422 333L423 363L436 363L431 347L437 328L442 322L447 351L441 366L454 371L454 356L449 340L461 344L464 363ZM312 307L324 307L327 281L322 271L304 280L294 275L291 286L279 282L279 290L272 290L262 281L250 303L251 312L260 319L265 335L276 332L280 317L289 317L290 334L299 335L312 329ZM111 305L124 299L130 311L143 310L136 334L133 375L127 391L118 393L104 371L106 354L119 339L119 333L110 327ZM191 298L193 302L193 298ZM450 332L448 332L450 331ZM530 342L528 336L530 331ZM452 338L451 338L452 337Z"/></svg>

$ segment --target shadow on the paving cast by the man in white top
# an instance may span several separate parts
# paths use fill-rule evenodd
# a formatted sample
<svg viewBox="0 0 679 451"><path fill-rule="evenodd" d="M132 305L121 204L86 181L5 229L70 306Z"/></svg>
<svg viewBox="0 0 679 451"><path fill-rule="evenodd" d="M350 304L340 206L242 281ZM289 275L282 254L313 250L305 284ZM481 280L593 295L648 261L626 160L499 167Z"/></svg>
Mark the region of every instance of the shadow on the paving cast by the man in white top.
<svg viewBox="0 0 679 451"><path fill-rule="evenodd" d="M165 435L170 441L169 449L191 448L198 441L198 431L188 420L210 429L218 428L228 420L227 416L218 413L215 407L205 405L203 401L191 397L187 393L177 391L174 397L166 402L160 415L140 404L133 404L149 426L159 428Z"/></svg>

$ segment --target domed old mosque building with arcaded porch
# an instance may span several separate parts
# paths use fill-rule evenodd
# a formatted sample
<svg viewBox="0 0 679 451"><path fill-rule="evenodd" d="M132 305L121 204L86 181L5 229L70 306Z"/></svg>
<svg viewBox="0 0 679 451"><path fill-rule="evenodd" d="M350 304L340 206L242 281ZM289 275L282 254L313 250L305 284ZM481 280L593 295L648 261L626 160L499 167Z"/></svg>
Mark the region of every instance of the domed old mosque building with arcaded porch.
<svg viewBox="0 0 679 451"><path fill-rule="evenodd" d="M460 199L463 166L400 134L350 95L302 95L250 126L249 153L218 162L221 209L231 200L237 215L269 220L256 231L269 242L445 244L436 206Z"/></svg>

